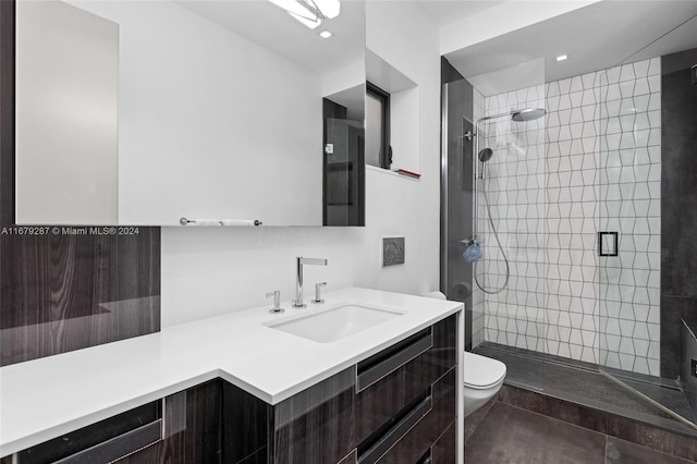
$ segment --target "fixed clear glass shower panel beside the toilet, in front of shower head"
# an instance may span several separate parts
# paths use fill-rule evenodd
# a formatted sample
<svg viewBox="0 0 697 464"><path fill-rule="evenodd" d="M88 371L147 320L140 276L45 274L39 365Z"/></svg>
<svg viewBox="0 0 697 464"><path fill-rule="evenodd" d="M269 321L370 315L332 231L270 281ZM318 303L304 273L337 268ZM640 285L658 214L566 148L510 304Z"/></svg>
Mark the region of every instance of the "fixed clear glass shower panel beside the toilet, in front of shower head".
<svg viewBox="0 0 697 464"><path fill-rule="evenodd" d="M481 314L480 327L475 323L481 343L475 351L503 361L509 384L535 391L550 388L550 335L553 354L559 353L559 337L550 330L547 285L543 66L543 60L534 60L469 78L477 133L472 160L476 228L470 242L480 251L473 264L474 319Z"/></svg>

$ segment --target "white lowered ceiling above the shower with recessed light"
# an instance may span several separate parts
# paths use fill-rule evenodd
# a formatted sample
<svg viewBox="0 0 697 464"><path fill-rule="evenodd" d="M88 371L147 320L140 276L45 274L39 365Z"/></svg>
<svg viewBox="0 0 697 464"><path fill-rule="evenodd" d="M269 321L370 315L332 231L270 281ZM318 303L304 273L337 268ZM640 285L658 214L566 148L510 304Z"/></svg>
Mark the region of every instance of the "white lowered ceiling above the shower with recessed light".
<svg viewBox="0 0 697 464"><path fill-rule="evenodd" d="M419 1L429 15L448 16L449 3L452 16L466 13L462 3L480 2ZM492 95L690 48L697 48L697 1L604 0L445 57ZM557 62L562 53L570 59Z"/></svg>

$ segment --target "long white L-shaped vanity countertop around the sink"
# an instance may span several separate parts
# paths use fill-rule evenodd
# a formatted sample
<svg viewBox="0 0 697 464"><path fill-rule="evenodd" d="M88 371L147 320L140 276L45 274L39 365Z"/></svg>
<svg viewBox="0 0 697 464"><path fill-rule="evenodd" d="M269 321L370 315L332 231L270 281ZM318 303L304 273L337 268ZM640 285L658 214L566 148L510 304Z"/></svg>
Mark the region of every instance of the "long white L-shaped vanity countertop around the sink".
<svg viewBox="0 0 697 464"><path fill-rule="evenodd" d="M359 302L405 313L318 343L262 325L315 310L286 301L280 315L264 306L2 367L0 456L217 377L277 404L463 309L457 302L355 288L325 300L323 307Z"/></svg>

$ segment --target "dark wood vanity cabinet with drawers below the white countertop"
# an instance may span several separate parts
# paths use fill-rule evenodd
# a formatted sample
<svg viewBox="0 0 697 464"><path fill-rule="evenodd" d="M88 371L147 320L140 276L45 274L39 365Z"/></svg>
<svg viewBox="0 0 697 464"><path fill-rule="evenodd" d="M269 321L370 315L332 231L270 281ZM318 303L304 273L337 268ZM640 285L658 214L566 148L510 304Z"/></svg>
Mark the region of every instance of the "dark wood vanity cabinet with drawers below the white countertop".
<svg viewBox="0 0 697 464"><path fill-rule="evenodd" d="M146 439L149 436L142 431L133 436L118 432L120 449L126 450L118 462L454 463L456 332L453 315L276 405L222 379L169 395L151 403L158 406L148 413L155 416L147 419L147 430L155 430L155 438ZM123 415L134 416L137 410ZM130 420L129 430L142 430L138 420L135 425ZM95 441L90 436L100 424L73 434ZM22 456L56 451L51 443L60 441L22 451L20 462L56 462L56 457L27 461ZM80 454L75 456L65 463L115 459L81 461ZM0 463L11 462L9 459Z"/></svg>

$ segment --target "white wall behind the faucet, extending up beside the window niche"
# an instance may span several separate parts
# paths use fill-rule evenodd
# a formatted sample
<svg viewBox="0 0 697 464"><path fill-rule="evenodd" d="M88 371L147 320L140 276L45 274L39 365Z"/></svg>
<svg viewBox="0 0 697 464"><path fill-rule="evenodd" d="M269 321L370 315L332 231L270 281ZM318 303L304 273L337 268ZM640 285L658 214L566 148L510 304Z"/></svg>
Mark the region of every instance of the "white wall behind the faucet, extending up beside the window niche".
<svg viewBox="0 0 697 464"><path fill-rule="evenodd" d="M440 56L438 32L403 2L367 2L367 47L414 76L419 89L420 181L366 172L365 228L162 229L162 325L293 297L296 256L328 290L358 285L419 294L438 288L440 216ZM414 34L418 30L419 34ZM405 264L381 268L381 237L405 237Z"/></svg>

